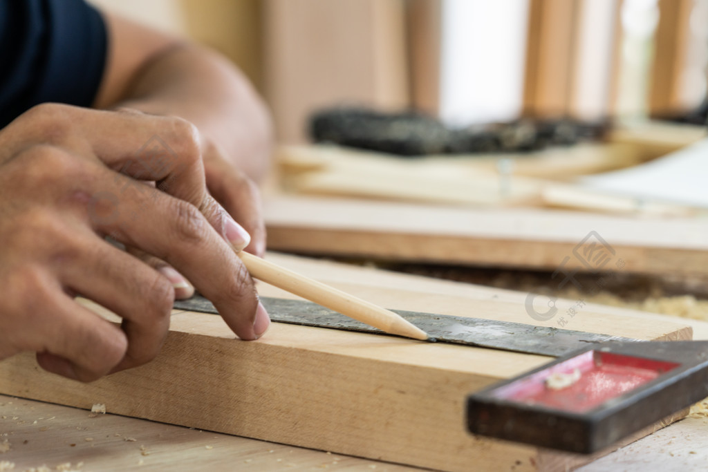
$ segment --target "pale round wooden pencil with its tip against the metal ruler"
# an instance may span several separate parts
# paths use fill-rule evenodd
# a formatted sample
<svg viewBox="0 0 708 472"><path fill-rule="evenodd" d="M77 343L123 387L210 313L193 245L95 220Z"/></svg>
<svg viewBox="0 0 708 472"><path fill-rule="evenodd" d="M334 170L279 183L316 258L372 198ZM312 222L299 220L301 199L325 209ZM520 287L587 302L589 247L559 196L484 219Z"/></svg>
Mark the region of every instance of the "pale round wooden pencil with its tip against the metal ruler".
<svg viewBox="0 0 708 472"><path fill-rule="evenodd" d="M240 251L237 254L251 272L251 276L258 280L275 285L279 289L299 295L309 301L314 301L316 304L326 306L387 333L420 340L430 338L425 331L413 326L393 311L383 309L369 301L354 297L245 251Z"/></svg>

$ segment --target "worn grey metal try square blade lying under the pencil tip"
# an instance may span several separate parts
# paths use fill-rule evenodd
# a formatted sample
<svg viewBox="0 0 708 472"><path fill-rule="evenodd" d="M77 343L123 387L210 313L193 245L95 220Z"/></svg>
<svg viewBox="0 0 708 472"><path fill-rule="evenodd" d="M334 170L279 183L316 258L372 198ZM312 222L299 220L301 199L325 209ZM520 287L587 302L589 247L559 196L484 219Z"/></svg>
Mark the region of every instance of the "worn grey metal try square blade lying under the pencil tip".
<svg viewBox="0 0 708 472"><path fill-rule="evenodd" d="M268 310L270 319L278 323L387 335L382 330L372 328L311 301L262 297L261 303ZM188 300L175 301L174 307L188 311L218 314L211 301L198 295ZM439 343L489 347L525 354L558 357L586 347L588 343L637 341L619 336L533 326L510 321L436 315L417 311L392 311L436 338Z"/></svg>

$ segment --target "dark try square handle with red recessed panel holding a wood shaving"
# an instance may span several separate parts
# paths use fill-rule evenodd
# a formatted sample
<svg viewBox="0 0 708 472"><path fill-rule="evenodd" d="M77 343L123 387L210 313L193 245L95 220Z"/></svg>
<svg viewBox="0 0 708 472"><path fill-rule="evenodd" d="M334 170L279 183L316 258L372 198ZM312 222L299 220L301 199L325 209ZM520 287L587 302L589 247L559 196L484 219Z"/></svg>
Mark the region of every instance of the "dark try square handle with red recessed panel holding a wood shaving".
<svg viewBox="0 0 708 472"><path fill-rule="evenodd" d="M611 342L474 393L474 434L590 454L708 396L708 341Z"/></svg>

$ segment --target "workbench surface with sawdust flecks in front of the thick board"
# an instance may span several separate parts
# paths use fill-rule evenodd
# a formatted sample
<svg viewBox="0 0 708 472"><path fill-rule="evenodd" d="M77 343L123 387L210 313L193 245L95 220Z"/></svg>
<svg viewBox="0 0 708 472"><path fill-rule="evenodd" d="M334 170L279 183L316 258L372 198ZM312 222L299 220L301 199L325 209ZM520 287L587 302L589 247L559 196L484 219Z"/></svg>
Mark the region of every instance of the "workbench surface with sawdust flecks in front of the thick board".
<svg viewBox="0 0 708 472"><path fill-rule="evenodd" d="M8 396L0 396L0 427L8 434L0 444L11 444L0 464L11 461L15 471L67 463L86 472L423 470ZM707 444L708 420L686 418L578 471L704 470Z"/></svg>

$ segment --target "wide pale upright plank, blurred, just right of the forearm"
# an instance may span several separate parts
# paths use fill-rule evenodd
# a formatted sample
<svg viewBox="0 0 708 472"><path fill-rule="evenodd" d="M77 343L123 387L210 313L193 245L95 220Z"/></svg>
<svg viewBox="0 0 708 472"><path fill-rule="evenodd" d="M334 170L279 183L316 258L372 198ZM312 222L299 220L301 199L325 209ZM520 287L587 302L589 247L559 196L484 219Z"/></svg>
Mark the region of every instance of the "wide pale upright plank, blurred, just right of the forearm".
<svg viewBox="0 0 708 472"><path fill-rule="evenodd" d="M268 0L265 96L278 142L305 141L313 111L409 105L401 0Z"/></svg>

